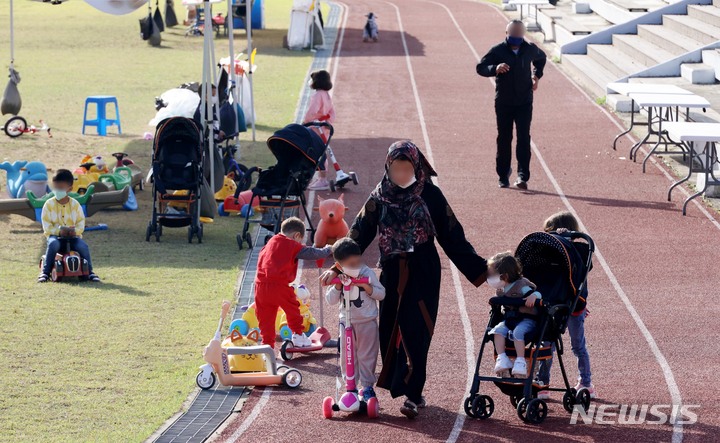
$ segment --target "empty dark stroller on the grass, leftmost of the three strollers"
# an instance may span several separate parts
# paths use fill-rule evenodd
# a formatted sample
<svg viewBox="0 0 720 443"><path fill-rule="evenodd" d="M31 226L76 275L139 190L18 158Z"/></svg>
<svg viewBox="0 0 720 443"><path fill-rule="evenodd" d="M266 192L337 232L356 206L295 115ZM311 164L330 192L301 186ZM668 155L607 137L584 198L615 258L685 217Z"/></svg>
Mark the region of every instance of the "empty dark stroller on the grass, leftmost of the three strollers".
<svg viewBox="0 0 720 443"><path fill-rule="evenodd" d="M188 227L188 243L202 243L200 193L203 149L200 130L192 119L172 117L161 121L153 143L153 214L145 232L160 241L163 226Z"/></svg>

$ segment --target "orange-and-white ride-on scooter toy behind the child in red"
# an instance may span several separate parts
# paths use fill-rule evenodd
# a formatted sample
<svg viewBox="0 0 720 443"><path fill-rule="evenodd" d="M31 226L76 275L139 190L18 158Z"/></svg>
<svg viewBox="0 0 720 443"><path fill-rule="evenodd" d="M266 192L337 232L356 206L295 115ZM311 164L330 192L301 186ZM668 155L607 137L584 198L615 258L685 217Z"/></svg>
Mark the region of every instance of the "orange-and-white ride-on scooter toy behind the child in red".
<svg viewBox="0 0 720 443"><path fill-rule="evenodd" d="M302 374L297 369L288 366L277 366L275 352L268 345L257 346L230 346L223 347L220 343L220 330L228 311L230 302L223 302L220 322L218 323L215 336L203 350L203 359L207 362L200 366L200 372L195 377L195 382L201 389L210 389L215 385L217 379L224 386L271 386L285 385L289 388L297 388L302 383ZM264 360L262 371L243 372L234 374L230 369L230 357L237 356L259 356Z"/></svg>

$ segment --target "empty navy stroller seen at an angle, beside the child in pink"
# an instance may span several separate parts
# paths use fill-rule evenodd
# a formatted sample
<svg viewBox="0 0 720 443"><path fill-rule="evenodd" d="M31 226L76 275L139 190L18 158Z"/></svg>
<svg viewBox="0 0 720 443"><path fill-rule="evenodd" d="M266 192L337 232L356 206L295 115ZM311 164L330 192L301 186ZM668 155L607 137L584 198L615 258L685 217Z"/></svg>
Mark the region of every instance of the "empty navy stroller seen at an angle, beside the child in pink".
<svg viewBox="0 0 720 443"><path fill-rule="evenodd" d="M329 128L330 135L327 143L323 143L315 131L310 127L325 126ZM251 211L245 211L245 224L242 234L237 235L238 247L242 249L246 242L252 248L250 239L250 224L259 223L260 226L277 234L280 232L280 224L289 217L297 216L302 206L305 218L310 225L309 231L315 235L315 228L310 221L311 217L305 202L305 188L317 168L318 159L322 157L327 144L333 135L333 127L324 122L306 123L305 125L290 124L275 132L268 138L267 145L277 159L275 166L265 170L258 170L258 181L252 190L252 197L248 207L252 208L255 199L258 200L258 212L261 213L259 220L251 220ZM245 178L251 180L252 172L248 172ZM237 200L240 193L240 186L235 192ZM265 242L272 234L265 237Z"/></svg>

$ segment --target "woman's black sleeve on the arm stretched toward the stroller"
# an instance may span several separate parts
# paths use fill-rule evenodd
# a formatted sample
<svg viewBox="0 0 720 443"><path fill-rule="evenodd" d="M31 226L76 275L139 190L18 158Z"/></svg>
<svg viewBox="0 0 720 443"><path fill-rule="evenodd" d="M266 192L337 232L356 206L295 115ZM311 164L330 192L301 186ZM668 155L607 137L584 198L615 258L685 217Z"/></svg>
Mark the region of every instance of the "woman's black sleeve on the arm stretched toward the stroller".
<svg viewBox="0 0 720 443"><path fill-rule="evenodd" d="M423 192L437 231L437 239L448 258L475 286L485 282L487 261L475 252L465 238L465 230L455 217L442 191L434 185L426 185Z"/></svg>

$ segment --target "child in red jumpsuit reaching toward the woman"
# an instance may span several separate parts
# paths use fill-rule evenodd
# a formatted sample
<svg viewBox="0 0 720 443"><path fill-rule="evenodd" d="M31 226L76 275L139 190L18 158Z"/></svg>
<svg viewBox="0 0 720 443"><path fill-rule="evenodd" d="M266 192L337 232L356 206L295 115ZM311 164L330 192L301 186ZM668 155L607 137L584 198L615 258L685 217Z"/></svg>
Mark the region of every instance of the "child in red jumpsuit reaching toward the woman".
<svg viewBox="0 0 720 443"><path fill-rule="evenodd" d="M255 314L263 344L275 347L275 319L278 308L285 311L288 326L293 331L296 347L312 343L303 333L300 302L290 284L297 276L298 260L320 260L332 254L332 247L304 246L305 223L297 217L283 221L280 233L273 236L260 251L255 277Z"/></svg>

